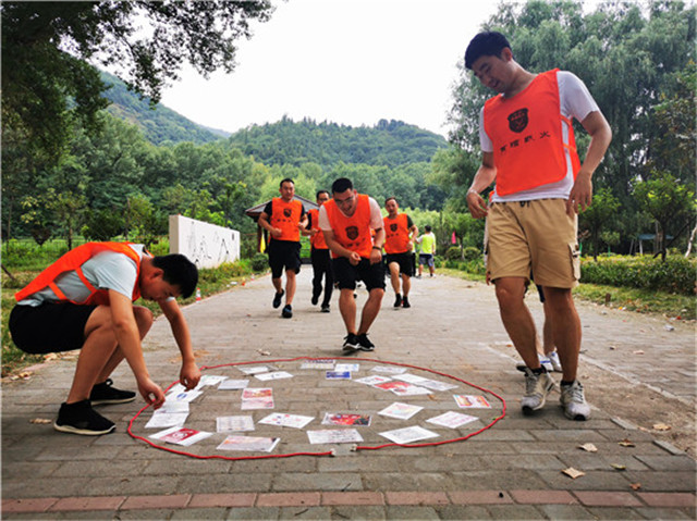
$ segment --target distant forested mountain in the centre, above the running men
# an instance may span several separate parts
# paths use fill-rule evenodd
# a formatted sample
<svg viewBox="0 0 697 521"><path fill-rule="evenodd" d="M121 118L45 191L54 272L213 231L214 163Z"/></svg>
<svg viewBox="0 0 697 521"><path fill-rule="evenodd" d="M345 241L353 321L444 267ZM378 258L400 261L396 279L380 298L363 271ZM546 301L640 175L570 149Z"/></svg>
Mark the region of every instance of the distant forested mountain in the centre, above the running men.
<svg viewBox="0 0 697 521"><path fill-rule="evenodd" d="M323 168L340 162L381 166L430 162L437 150L448 146L442 136L401 121L352 127L289 117L240 131L229 142L265 164L313 162Z"/></svg>

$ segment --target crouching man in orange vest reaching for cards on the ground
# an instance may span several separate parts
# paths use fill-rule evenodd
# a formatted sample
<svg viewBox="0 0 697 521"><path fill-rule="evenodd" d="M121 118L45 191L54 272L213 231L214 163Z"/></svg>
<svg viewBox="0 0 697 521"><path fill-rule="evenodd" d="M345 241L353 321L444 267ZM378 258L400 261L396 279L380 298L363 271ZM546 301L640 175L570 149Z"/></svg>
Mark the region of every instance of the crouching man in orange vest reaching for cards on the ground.
<svg viewBox="0 0 697 521"><path fill-rule="evenodd" d="M117 389L109 377L124 358L145 401L156 409L164 402L143 358L142 340L152 325L152 312L133 305L140 297L156 301L170 322L182 353L181 383L187 389L198 385L200 371L188 326L175 300L192 295L197 282L196 265L182 255L151 257L143 245L87 243L17 291L9 325L20 349L81 350L73 384L53 424L57 431L94 436L115 429L93 406L135 399L135 393Z"/></svg>

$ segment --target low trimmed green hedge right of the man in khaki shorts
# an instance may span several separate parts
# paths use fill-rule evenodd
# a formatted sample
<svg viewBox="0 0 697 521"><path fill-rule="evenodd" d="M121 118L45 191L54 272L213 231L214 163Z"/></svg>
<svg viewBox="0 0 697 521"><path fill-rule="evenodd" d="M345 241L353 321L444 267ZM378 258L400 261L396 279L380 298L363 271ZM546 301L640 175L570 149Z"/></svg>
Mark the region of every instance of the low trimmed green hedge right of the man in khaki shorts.
<svg viewBox="0 0 697 521"><path fill-rule="evenodd" d="M670 256L664 262L647 256L613 256L582 260L580 273L583 283L694 295L697 261L682 256Z"/></svg>

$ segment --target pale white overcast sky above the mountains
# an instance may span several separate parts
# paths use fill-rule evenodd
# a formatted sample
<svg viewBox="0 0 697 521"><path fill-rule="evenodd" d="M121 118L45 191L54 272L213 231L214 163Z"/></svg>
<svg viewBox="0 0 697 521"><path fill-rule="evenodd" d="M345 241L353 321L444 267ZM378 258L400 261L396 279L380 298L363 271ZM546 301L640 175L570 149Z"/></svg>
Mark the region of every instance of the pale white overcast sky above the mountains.
<svg viewBox="0 0 697 521"><path fill-rule="evenodd" d="M239 40L237 66L204 79L193 69L162 104L230 133L310 117L350 126L400 120L447 136L447 113L469 40L499 2L273 0Z"/></svg>

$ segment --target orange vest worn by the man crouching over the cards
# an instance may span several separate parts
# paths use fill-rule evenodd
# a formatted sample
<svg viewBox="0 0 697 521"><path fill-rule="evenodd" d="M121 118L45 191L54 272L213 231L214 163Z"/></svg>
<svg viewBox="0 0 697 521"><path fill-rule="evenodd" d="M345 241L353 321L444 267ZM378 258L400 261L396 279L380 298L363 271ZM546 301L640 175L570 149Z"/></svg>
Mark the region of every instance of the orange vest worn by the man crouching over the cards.
<svg viewBox="0 0 697 521"><path fill-rule="evenodd" d="M135 261L136 265L136 283L133 287L132 301L136 301L140 298L140 287L138 285L138 276L140 275L140 256L131 248L131 243L86 243L78 246L75 249L70 250L68 253L60 257L56 262L49 265L46 270L38 274L38 276L32 281L24 289L21 289L14 295L16 301L24 300L30 295L40 291L47 287L50 287L60 302L72 302L77 305L97 305L109 306L109 290L98 289L91 285L87 277L85 277L82 266L89 259L102 251L114 251L117 253L123 253ZM74 271L83 282L83 284L89 289L89 297L83 302L75 302L69 299L63 291L56 285L56 280L59 275Z"/></svg>

